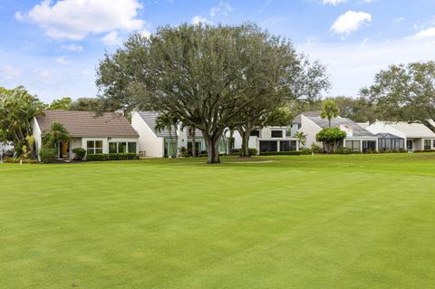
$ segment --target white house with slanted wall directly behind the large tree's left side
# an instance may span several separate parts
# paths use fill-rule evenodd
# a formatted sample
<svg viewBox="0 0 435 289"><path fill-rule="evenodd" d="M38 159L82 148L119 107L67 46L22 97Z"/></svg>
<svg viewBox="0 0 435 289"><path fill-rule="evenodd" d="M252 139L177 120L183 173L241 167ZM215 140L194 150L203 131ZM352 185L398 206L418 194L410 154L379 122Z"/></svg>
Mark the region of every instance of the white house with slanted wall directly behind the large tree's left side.
<svg viewBox="0 0 435 289"><path fill-rule="evenodd" d="M183 128L181 124L176 129L155 130L156 118L160 116L156 111L135 111L131 116L131 125L139 133L140 154L153 157L177 157L181 149L192 151L193 138L189 127ZM207 150L201 130L195 130L195 146L197 153ZM219 153L227 153L227 141L222 140Z"/></svg>

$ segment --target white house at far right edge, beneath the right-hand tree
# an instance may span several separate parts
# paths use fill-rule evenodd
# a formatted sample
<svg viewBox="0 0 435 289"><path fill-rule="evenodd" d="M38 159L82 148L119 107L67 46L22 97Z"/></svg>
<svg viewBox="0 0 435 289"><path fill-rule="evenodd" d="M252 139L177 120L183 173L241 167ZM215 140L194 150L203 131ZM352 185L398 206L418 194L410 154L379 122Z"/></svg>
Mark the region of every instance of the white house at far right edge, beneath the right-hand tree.
<svg viewBox="0 0 435 289"><path fill-rule="evenodd" d="M366 130L380 138L380 150L435 149L435 133L421 123L376 121L369 125Z"/></svg>

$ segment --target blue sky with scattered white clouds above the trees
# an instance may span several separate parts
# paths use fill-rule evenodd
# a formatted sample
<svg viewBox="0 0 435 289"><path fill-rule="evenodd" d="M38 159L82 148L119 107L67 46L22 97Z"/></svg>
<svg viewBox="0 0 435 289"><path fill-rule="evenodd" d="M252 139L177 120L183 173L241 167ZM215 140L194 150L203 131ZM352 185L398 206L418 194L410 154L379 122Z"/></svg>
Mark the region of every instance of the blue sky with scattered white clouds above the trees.
<svg viewBox="0 0 435 289"><path fill-rule="evenodd" d="M247 21L327 65L327 95L356 96L391 63L435 60L433 0L0 0L0 86L92 97L98 60L133 31Z"/></svg>

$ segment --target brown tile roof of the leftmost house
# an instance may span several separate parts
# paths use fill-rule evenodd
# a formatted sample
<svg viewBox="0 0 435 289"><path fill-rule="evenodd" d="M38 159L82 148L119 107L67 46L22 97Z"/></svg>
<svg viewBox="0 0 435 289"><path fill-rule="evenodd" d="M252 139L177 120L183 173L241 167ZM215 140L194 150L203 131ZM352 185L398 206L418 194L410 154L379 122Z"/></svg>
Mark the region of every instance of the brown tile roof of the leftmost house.
<svg viewBox="0 0 435 289"><path fill-rule="evenodd" d="M43 111L36 117L41 131L49 130L53 121L63 124L73 138L137 138L130 122L115 112L96 115L90 111Z"/></svg>

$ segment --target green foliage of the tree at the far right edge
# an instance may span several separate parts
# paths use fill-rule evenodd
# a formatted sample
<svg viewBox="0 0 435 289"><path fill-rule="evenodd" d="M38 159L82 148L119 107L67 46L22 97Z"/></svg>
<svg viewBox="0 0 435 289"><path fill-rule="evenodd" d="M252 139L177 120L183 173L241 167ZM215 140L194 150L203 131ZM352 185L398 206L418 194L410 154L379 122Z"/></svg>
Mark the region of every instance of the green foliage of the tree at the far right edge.
<svg viewBox="0 0 435 289"><path fill-rule="evenodd" d="M435 62L391 65L360 93L376 104L381 120L435 120ZM433 128L432 128L433 129Z"/></svg>

